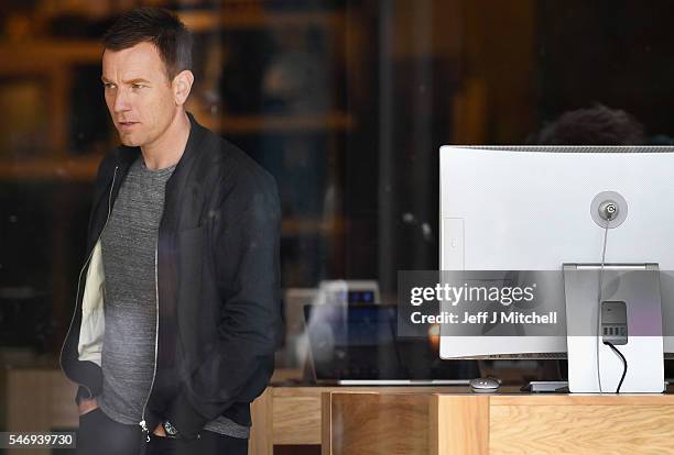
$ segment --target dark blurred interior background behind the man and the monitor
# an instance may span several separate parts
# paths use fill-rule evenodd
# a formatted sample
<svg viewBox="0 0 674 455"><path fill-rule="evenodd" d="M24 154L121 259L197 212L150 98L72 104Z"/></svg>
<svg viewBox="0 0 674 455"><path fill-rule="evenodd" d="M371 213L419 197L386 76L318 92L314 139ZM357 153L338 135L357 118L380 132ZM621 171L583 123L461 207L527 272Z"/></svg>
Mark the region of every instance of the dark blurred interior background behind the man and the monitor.
<svg viewBox="0 0 674 455"><path fill-rule="evenodd" d="M670 1L6 0L3 358L57 365L93 179L117 143L98 40L139 4L194 30L189 110L276 178L286 289L374 279L394 302L398 270L437 268L443 144L531 143L598 104L644 144L674 135Z"/></svg>

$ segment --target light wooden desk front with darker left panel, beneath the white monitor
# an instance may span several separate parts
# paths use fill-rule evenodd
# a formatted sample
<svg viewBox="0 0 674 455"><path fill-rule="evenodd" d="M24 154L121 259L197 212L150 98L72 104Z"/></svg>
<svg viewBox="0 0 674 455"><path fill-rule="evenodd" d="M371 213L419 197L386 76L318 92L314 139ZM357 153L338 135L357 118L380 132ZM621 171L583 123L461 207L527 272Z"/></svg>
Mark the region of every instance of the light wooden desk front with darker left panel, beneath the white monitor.
<svg viewBox="0 0 674 455"><path fill-rule="evenodd" d="M330 391L323 455L671 454L674 396Z"/></svg>

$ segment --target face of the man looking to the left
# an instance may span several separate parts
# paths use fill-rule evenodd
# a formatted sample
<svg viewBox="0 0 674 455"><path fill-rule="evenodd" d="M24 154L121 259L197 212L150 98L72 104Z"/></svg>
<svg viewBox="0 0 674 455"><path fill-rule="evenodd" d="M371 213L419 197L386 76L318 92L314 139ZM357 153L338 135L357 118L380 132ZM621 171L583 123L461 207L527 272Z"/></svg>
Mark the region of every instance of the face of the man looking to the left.
<svg viewBox="0 0 674 455"><path fill-rule="evenodd" d="M164 63L152 43L106 49L101 80L122 144L143 146L164 134L177 106Z"/></svg>

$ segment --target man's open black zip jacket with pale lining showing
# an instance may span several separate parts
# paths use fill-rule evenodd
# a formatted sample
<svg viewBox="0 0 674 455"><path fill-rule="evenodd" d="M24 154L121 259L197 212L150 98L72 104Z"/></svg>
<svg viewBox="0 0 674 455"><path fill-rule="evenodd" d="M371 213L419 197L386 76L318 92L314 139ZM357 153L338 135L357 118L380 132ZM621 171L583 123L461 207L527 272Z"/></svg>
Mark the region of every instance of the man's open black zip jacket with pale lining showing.
<svg viewBox="0 0 674 455"><path fill-rule="evenodd" d="M274 179L188 114L185 152L166 182L155 251L157 331L144 431L168 420L183 437L225 415L250 425L250 402L267 387L282 332ZM102 160L87 255L61 351L76 401L101 392L105 276L100 234L139 147Z"/></svg>

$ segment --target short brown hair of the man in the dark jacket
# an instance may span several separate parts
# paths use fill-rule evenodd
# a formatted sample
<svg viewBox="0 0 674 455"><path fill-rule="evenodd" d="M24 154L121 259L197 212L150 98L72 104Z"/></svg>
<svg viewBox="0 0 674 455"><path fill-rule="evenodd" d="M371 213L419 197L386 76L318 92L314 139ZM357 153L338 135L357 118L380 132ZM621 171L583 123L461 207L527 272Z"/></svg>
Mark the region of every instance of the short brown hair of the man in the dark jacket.
<svg viewBox="0 0 674 455"><path fill-rule="evenodd" d="M140 43L156 46L168 80L192 69L192 33L171 11L161 8L137 8L126 12L102 37L104 48L122 51Z"/></svg>

